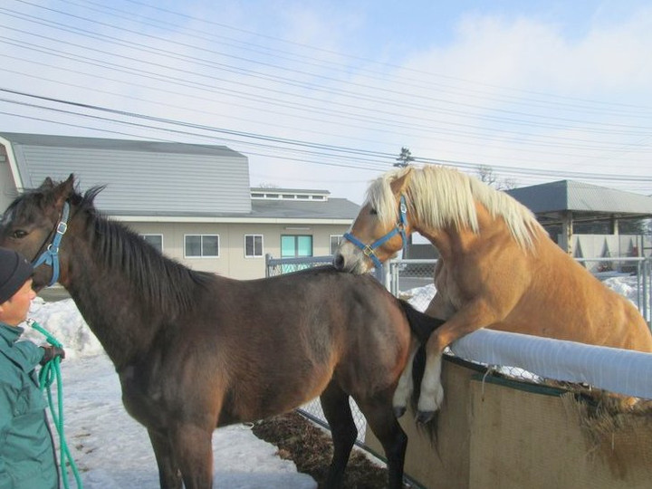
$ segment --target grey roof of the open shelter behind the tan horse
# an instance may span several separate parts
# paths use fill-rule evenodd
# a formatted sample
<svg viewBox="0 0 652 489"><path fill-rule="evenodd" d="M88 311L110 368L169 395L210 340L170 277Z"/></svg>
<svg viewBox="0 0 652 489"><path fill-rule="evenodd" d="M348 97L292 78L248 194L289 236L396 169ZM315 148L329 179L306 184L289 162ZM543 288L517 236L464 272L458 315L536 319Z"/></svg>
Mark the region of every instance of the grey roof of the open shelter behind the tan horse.
<svg viewBox="0 0 652 489"><path fill-rule="evenodd" d="M559 222L569 212L575 220L652 217L652 197L574 180L513 188L507 193L532 210L542 224Z"/></svg>

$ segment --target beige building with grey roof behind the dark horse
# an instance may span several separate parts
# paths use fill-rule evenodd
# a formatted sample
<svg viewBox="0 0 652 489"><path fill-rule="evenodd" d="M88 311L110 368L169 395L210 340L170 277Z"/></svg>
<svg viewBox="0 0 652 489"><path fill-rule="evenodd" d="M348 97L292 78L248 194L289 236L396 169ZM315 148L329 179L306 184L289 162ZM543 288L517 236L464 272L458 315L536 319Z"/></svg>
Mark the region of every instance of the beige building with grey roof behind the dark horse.
<svg viewBox="0 0 652 489"><path fill-rule="evenodd" d="M359 206L327 190L252 188L224 146L0 133L0 208L45 177L105 186L96 206L195 270L264 277L273 257L332 254Z"/></svg>

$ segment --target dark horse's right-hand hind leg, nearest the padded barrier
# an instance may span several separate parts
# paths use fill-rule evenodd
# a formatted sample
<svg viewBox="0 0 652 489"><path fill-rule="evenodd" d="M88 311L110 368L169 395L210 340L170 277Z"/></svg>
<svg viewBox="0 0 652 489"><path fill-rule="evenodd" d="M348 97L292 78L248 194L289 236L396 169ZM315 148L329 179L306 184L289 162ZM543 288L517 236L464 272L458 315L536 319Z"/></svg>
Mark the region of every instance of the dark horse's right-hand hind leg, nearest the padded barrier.
<svg viewBox="0 0 652 489"><path fill-rule="evenodd" d="M388 461L388 487L403 487L403 465L408 448L408 436L398 424L390 404L391 393L377 394L370 399L356 399L367 424L379 439Z"/></svg>

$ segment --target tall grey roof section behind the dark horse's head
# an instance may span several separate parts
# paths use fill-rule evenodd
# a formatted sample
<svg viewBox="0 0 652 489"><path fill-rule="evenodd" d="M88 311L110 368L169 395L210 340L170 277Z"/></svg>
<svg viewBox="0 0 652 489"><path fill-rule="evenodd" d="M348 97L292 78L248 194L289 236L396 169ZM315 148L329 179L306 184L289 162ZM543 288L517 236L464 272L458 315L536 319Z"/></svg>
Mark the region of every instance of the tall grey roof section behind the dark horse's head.
<svg viewBox="0 0 652 489"><path fill-rule="evenodd" d="M251 211L247 158L225 146L0 133L17 187L75 174L82 189L106 185L96 204L115 213Z"/></svg>

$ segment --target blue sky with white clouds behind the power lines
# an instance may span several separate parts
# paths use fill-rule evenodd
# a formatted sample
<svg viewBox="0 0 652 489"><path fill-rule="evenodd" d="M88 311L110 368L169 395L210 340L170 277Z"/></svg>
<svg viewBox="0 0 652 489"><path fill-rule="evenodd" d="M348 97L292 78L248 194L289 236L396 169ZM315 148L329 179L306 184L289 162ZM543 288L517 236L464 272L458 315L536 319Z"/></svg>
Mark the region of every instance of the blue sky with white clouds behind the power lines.
<svg viewBox="0 0 652 489"><path fill-rule="evenodd" d="M652 194L650 53L638 1L5 0L0 131L225 144L359 203L403 146Z"/></svg>

